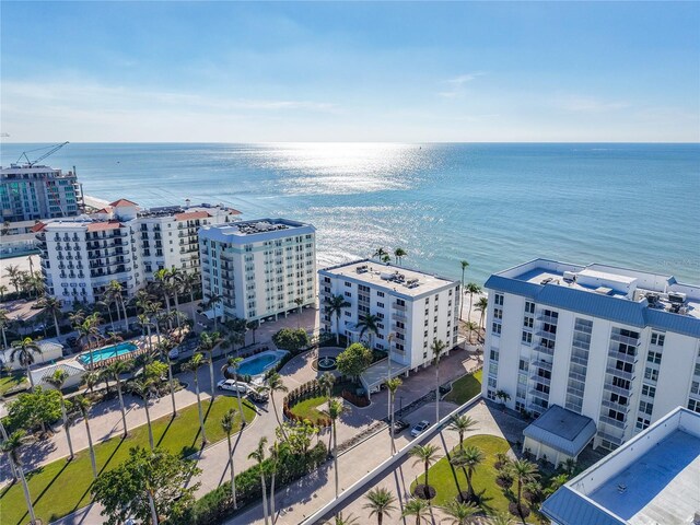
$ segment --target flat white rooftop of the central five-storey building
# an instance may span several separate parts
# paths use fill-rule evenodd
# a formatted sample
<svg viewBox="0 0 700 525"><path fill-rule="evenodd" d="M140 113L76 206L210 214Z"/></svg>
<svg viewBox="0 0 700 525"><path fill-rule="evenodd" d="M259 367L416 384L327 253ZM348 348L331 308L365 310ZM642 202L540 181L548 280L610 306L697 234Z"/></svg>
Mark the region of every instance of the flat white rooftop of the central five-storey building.
<svg viewBox="0 0 700 525"><path fill-rule="evenodd" d="M343 277L348 280L383 289L389 292L398 292L409 298L453 287L457 281L444 279L419 270L404 268L392 264L378 262L372 259L362 259L354 262L332 266L319 271L320 275Z"/></svg>

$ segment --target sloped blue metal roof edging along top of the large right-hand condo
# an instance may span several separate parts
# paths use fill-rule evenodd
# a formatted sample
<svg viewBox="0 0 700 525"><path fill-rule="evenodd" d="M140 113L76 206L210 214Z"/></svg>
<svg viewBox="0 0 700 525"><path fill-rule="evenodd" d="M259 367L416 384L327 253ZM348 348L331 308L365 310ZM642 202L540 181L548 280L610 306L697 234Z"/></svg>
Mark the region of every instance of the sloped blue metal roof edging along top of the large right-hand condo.
<svg viewBox="0 0 700 525"><path fill-rule="evenodd" d="M687 315L650 308L645 302L600 295L595 292L561 287L559 284L536 284L502 276L491 276L485 288L513 293L556 308L600 317L640 328L651 326L690 337L700 337L700 319Z"/></svg>

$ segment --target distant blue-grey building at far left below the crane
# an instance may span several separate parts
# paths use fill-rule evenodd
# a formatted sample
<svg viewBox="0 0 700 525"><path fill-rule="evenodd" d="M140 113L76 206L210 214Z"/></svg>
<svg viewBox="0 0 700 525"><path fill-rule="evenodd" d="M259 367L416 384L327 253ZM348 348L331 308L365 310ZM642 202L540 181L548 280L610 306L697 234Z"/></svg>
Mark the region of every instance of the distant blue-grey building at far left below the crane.
<svg viewBox="0 0 700 525"><path fill-rule="evenodd" d="M2 222L73 217L82 208L82 191L73 172L14 164L0 168Z"/></svg>

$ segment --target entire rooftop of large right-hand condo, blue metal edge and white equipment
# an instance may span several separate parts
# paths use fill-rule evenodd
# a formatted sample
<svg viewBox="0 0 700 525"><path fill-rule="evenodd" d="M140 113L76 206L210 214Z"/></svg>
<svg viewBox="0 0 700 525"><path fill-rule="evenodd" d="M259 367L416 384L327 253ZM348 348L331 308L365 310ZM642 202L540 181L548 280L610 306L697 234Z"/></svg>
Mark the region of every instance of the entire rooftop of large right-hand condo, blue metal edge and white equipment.
<svg viewBox="0 0 700 525"><path fill-rule="evenodd" d="M700 285L605 265L535 259L494 273L486 288L630 326L700 337Z"/></svg>

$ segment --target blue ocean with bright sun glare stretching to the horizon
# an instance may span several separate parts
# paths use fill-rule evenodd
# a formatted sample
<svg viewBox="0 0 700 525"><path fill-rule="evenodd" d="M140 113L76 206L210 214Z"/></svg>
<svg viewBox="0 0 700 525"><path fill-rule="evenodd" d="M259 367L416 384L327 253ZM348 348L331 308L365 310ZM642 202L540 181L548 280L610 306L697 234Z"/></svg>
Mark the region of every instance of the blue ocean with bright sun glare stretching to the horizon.
<svg viewBox="0 0 700 525"><path fill-rule="evenodd" d="M71 143L45 162L108 200L310 221L319 267L400 246L478 283L535 257L700 281L700 144Z"/></svg>

